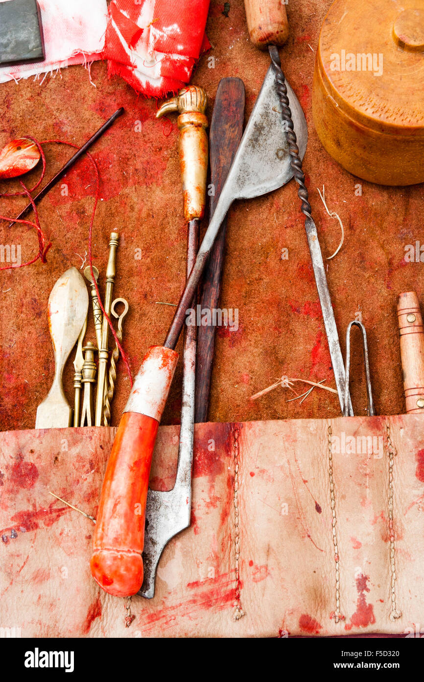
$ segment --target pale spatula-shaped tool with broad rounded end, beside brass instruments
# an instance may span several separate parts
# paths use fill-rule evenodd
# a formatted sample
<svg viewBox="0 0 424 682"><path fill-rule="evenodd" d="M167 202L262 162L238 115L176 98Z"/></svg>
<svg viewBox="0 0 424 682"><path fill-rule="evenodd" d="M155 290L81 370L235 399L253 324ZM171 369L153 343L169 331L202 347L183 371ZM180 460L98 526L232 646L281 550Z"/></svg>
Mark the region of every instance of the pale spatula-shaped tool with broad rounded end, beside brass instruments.
<svg viewBox="0 0 424 682"><path fill-rule="evenodd" d="M54 379L47 398L37 408L35 428L71 426L72 409L65 398L62 374L88 312L88 291L71 267L57 280L48 299L48 326L54 350Z"/></svg>

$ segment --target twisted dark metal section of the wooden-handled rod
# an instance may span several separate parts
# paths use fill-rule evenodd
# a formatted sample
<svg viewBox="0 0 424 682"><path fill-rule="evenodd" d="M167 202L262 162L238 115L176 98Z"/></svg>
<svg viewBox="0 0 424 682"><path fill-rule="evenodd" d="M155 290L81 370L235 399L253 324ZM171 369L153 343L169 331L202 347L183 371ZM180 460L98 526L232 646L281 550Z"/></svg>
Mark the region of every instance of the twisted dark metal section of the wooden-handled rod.
<svg viewBox="0 0 424 682"><path fill-rule="evenodd" d="M304 213L306 218L310 218L310 220L312 220L312 208L308 201L309 195L308 190L306 189L304 171L301 169L299 147L297 147L297 138L293 126L293 118L291 116L290 102L289 98L287 97L286 79L284 78L281 68L280 55L278 54L278 48L276 48L275 45L269 45L268 50L276 77L278 99L280 100L282 108L281 115L282 120L284 121L284 131L287 136L287 142L289 143L291 167L293 168L295 181L299 185L299 188L297 188L297 194L299 194L299 199L301 200L301 211Z"/></svg>

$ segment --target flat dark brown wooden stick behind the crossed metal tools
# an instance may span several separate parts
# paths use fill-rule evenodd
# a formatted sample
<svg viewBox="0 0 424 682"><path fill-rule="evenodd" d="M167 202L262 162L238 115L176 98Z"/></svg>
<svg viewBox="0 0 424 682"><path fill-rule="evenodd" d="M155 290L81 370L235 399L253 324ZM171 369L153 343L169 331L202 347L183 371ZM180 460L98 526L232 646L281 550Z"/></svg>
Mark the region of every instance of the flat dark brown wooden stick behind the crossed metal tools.
<svg viewBox="0 0 424 682"><path fill-rule="evenodd" d="M244 85L240 78L223 78L220 80L212 122L210 125L210 181L214 194L210 198L210 215L212 216L223 184L227 179L234 154L243 134L244 120ZM216 237L209 261L203 273L203 290L201 292L201 310L213 310L218 307L221 295L221 278L225 254L225 232L227 219L221 225ZM210 381L212 362L214 359L216 328L199 327L197 332L196 360L196 398L195 421L208 420L210 397Z"/></svg>

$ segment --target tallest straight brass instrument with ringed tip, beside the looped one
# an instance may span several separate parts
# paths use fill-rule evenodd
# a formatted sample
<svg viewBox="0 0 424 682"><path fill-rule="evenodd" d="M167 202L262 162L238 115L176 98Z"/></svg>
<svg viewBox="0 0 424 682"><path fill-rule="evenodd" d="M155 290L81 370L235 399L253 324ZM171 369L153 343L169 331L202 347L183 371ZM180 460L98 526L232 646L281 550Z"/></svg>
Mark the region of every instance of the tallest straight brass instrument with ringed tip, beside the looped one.
<svg viewBox="0 0 424 682"><path fill-rule="evenodd" d="M114 291L115 281L115 263L116 263L116 249L118 248L119 235L112 232L109 241L109 259L108 267L106 267L106 283L105 283L105 313L110 316L110 306L112 305L112 294ZM99 348L99 370L97 374L97 396L96 396L96 413L95 426L102 426L103 421L103 404L105 400L105 391L108 389L108 338L109 338L109 324L108 320L103 316L101 325L101 345ZM104 422L103 422L104 423ZM107 424L105 425L107 426Z"/></svg>

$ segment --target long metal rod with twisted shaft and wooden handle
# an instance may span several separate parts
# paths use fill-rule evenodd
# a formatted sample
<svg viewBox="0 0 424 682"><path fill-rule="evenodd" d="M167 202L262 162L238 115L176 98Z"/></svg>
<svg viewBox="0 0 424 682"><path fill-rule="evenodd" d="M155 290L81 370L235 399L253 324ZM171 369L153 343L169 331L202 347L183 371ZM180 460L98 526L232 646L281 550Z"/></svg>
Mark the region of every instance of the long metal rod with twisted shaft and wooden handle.
<svg viewBox="0 0 424 682"><path fill-rule="evenodd" d="M306 236L308 237L316 288L318 289L321 310L323 311L325 332L327 333L331 364L333 366L334 378L336 379L340 407L343 411L345 373L342 351L340 350L340 342L336 320L334 319L333 307L331 306L323 256L321 254L321 247L319 246L316 226L311 216L312 208L308 201L308 190L305 184L304 172L301 167L299 147L297 146L297 137L293 125L293 116L291 113L293 93L290 93L291 97L289 100L288 86L284 78L284 73L282 72L280 56L278 55L278 46L283 45L289 35L286 8L284 3L280 0L244 0L244 7L246 9L250 39L257 47L261 49L267 48L272 61L276 90L281 108L282 124L284 126L287 143L289 144L293 175L295 176L295 181L299 185L297 192L301 200L301 211L305 216ZM353 414L350 396L348 396L348 412L349 414Z"/></svg>

